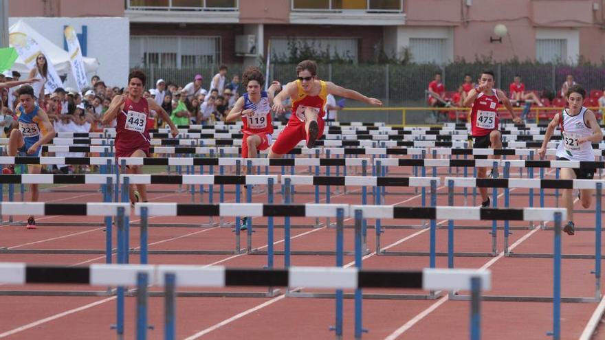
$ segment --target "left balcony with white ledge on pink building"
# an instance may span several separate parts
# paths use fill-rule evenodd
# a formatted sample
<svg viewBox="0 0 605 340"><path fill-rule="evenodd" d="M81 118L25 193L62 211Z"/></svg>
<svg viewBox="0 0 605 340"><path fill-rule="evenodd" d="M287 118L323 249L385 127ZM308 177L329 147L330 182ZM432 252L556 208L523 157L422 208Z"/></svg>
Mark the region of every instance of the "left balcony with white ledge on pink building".
<svg viewBox="0 0 605 340"><path fill-rule="evenodd" d="M124 15L135 23L238 23L239 0L126 0Z"/></svg>

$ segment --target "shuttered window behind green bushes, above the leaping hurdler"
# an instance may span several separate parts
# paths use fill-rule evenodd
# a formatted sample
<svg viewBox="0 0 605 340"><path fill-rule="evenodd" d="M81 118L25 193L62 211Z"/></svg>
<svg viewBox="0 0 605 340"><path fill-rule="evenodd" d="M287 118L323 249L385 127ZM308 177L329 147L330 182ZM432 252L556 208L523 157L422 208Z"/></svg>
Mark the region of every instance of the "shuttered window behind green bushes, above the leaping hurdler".
<svg viewBox="0 0 605 340"><path fill-rule="evenodd" d="M324 56L326 59L358 61L357 38L271 38L271 57L278 61L296 59L294 50L306 50L315 56ZM311 51L309 51L311 50Z"/></svg>

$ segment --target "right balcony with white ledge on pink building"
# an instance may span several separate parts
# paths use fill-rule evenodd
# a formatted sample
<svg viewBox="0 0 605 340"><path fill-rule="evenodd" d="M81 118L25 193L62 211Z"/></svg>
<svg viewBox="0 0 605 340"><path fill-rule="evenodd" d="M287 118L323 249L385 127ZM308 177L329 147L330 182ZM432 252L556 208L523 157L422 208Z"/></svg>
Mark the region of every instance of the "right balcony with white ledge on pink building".
<svg viewBox="0 0 605 340"><path fill-rule="evenodd" d="M291 0L290 23L404 25L403 0Z"/></svg>

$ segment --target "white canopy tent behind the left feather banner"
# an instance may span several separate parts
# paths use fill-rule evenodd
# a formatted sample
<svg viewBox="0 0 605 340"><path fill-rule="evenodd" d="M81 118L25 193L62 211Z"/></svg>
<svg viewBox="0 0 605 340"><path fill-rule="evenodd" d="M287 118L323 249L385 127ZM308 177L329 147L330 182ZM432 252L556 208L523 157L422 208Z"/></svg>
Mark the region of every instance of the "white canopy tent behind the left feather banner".
<svg viewBox="0 0 605 340"><path fill-rule="evenodd" d="M31 36L36 43L42 47L43 51L46 53L47 60L52 62L54 68L60 76L72 72L72 67L69 65L69 53L61 47L51 43L47 38L45 38L42 34L39 34L23 20L19 20L17 23L10 26L9 32L23 32L28 34L28 36ZM86 73L94 73L99 68L99 62L96 58L83 57L83 60ZM27 77L28 73L30 72L30 69L28 69L21 57L17 58L11 69L14 71L19 71L23 75L22 79Z"/></svg>

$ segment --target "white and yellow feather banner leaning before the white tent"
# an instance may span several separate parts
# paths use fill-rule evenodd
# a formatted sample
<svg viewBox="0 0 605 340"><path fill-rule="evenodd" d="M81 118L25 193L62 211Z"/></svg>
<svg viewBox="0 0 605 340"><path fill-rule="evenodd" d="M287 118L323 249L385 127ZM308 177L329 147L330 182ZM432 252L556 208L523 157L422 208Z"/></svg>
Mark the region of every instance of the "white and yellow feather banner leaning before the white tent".
<svg viewBox="0 0 605 340"><path fill-rule="evenodd" d="M36 68L36 58L39 54L44 54L46 57L46 64L48 65L48 73L45 83L46 93L53 93L58 87L63 87L63 82L56 73L54 65L52 65L52 60L50 60L48 54L42 50L42 47L38 45L38 43L36 43L32 37L23 32L13 32L9 34L8 40L10 41L10 45L17 50L17 54L19 54L23 60L23 63L28 65L28 68L30 69ZM34 83L32 84L32 87L34 87L37 97L40 94L41 85L39 83Z"/></svg>

